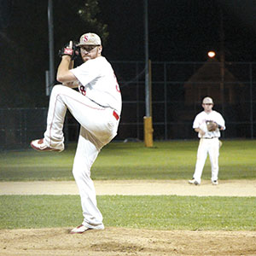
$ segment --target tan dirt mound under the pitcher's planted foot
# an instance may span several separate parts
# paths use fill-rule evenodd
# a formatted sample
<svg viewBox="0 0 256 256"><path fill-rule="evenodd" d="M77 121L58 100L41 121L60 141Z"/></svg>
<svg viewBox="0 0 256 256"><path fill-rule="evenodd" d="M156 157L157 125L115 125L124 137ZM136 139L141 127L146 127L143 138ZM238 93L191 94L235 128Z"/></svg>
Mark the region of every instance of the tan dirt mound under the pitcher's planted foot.
<svg viewBox="0 0 256 256"><path fill-rule="evenodd" d="M255 255L256 231L0 230L1 255Z"/></svg>

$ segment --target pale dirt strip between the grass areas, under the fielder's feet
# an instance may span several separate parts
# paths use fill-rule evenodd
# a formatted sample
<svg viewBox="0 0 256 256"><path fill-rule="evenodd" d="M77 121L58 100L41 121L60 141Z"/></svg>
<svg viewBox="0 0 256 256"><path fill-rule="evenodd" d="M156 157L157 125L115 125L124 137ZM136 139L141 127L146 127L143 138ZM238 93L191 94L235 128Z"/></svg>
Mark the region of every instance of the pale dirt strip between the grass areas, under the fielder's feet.
<svg viewBox="0 0 256 256"><path fill-rule="evenodd" d="M198 195L256 196L256 180L221 180L218 186L187 180L108 180L94 181L96 195ZM79 195L74 181L1 182L0 195Z"/></svg>

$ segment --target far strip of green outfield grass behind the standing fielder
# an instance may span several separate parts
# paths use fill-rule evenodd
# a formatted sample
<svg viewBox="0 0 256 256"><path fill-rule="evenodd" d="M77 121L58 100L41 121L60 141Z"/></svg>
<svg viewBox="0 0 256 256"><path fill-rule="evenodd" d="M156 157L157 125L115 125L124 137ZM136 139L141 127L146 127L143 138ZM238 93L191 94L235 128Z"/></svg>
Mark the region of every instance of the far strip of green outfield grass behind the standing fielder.
<svg viewBox="0 0 256 256"><path fill-rule="evenodd" d="M93 179L188 179L195 169L198 141L109 143L91 169ZM0 181L72 180L76 144L62 153L32 149L0 152ZM256 178L256 141L224 141L219 156L220 179ZM211 177L209 158L202 175Z"/></svg>

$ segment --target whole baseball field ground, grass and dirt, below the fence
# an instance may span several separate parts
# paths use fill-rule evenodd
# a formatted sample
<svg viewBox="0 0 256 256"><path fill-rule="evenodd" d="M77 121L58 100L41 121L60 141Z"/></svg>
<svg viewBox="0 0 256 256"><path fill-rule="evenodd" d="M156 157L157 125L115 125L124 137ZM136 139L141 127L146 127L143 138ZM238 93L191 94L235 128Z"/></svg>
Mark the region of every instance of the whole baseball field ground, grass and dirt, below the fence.
<svg viewBox="0 0 256 256"><path fill-rule="evenodd" d="M0 152L0 255L256 255L256 141L224 140L219 185L207 163L189 185L198 141L110 143L91 177L105 230L81 224L75 144Z"/></svg>

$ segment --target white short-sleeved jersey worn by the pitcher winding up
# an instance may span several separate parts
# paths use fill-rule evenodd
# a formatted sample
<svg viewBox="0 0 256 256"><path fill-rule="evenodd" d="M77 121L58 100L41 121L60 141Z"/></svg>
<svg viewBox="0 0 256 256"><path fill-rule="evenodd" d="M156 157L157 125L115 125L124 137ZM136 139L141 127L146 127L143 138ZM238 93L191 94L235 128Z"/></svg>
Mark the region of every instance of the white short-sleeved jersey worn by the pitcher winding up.
<svg viewBox="0 0 256 256"><path fill-rule="evenodd" d="M79 79L79 91L103 107L115 109L119 114L122 99L113 68L100 56L70 70Z"/></svg>

